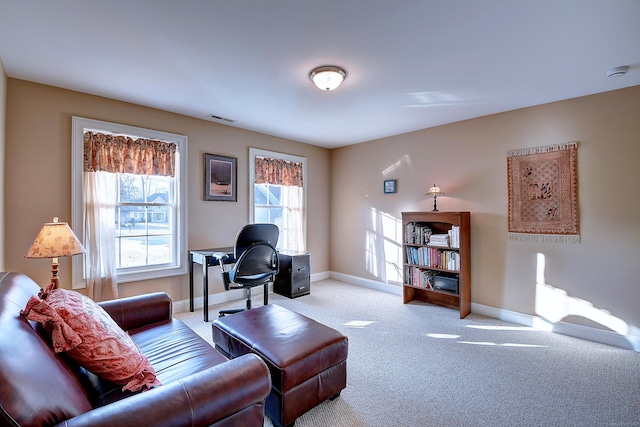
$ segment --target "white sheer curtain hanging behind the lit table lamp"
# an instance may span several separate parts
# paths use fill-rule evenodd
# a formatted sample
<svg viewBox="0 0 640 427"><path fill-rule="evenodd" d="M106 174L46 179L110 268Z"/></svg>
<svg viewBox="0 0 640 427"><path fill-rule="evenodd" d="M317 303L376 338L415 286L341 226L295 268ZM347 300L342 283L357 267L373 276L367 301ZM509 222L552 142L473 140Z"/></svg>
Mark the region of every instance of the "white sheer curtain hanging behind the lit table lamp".
<svg viewBox="0 0 640 427"><path fill-rule="evenodd" d="M94 301L118 298L115 173L84 172L84 235L87 293Z"/></svg>

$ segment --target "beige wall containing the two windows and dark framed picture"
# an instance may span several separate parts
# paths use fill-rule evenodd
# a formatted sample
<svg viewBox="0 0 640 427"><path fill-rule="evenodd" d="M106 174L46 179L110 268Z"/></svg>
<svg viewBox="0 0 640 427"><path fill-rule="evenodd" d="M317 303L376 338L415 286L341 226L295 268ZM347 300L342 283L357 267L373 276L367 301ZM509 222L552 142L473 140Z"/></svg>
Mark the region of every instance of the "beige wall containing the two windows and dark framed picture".
<svg viewBox="0 0 640 427"><path fill-rule="evenodd" d="M3 97L4 98L4 97ZM25 259L44 222L53 216L71 220L71 117L116 122L186 135L189 153L189 248L232 245L237 230L249 220L249 147L307 158L307 245L313 273L329 265L329 171L327 149L219 125L152 108L118 102L9 78L7 84L5 186L6 270L20 271L41 285L48 282L48 260ZM203 201L203 154L238 158L238 201ZM71 263L60 260L61 286L71 286ZM222 291L211 274L211 292ZM196 285L202 283L196 274ZM196 286L196 288L201 288ZM188 298L188 276L125 283L120 296L167 291L174 300ZM197 295L201 295L201 289Z"/></svg>

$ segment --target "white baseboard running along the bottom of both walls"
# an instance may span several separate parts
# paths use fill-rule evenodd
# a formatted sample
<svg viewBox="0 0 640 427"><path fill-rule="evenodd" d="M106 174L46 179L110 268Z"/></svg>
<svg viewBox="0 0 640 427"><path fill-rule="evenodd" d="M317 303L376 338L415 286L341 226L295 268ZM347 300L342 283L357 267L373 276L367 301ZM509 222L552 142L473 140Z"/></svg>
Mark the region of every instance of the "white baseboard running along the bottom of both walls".
<svg viewBox="0 0 640 427"><path fill-rule="evenodd" d="M364 286L366 288L375 289L382 292L387 292L394 295L402 295L402 287L398 285L390 285L385 282L365 279L358 276L351 276L348 274L337 273L335 271L325 271L320 273L314 273L311 275L311 282L317 282L325 279L336 279L353 285ZM269 287L269 292L273 292L273 286ZM254 289L252 294L255 297L262 298L262 288ZM227 292L218 292L209 295L209 305L222 304L231 301L244 300L244 291L233 290ZM202 297L194 299L194 308L196 310L202 309L203 301ZM176 313L188 311L189 301L174 301L173 310ZM501 308L491 307L488 305L471 303L471 312L480 314L487 317L493 317L494 319L504 320L506 322L515 323L517 325L529 326L535 329L546 330L556 332L562 335L568 335L575 338L581 338L589 341L598 342L601 344L612 345L615 347L621 347L629 350L640 352L640 336L636 335L621 335L611 331L605 331L603 329L592 328L589 326L576 325L566 322L549 322L548 320L533 316L530 314L519 313L516 311L505 310Z"/></svg>

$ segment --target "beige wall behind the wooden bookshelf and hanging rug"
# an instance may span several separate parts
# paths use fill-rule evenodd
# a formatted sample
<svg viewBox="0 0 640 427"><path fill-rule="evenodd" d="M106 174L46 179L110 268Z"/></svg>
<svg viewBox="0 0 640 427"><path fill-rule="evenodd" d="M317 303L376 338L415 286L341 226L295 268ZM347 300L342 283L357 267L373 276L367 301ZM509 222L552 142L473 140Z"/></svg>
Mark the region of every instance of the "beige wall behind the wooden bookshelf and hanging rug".
<svg viewBox="0 0 640 427"><path fill-rule="evenodd" d="M570 304L583 314L559 310L565 321L638 328L639 118L636 86L333 150L332 270L397 284L400 213L431 210L436 183L440 210L471 211L474 303L526 314ZM581 243L509 241L506 152L568 141L579 142ZM398 179L397 194L383 194L384 179ZM557 292L536 306L538 253Z"/></svg>

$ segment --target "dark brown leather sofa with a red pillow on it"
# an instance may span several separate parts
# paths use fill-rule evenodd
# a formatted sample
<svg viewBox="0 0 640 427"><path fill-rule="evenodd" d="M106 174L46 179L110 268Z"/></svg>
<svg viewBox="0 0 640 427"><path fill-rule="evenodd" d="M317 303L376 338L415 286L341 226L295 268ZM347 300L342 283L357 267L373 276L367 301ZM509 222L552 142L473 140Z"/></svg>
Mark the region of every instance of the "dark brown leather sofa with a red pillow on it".
<svg viewBox="0 0 640 427"><path fill-rule="evenodd" d="M172 318L166 293L100 303L163 384L132 393L55 353L42 328L20 315L39 290L23 274L0 273L0 425L263 425L266 364L253 354L228 360Z"/></svg>

